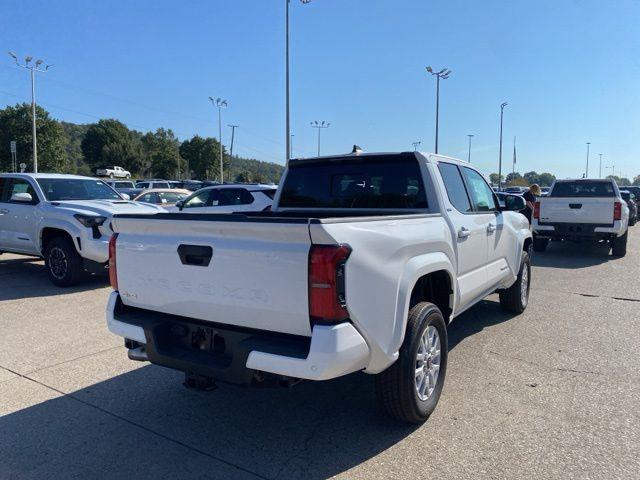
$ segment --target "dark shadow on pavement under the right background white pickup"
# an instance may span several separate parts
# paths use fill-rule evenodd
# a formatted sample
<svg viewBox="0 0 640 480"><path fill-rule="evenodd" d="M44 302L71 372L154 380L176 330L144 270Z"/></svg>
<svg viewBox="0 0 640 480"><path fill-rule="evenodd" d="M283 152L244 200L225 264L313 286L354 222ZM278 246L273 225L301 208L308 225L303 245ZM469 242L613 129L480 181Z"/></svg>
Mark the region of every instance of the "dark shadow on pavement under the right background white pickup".
<svg viewBox="0 0 640 480"><path fill-rule="evenodd" d="M550 242L544 252L534 252L534 267L587 268L615 260L607 243Z"/></svg>

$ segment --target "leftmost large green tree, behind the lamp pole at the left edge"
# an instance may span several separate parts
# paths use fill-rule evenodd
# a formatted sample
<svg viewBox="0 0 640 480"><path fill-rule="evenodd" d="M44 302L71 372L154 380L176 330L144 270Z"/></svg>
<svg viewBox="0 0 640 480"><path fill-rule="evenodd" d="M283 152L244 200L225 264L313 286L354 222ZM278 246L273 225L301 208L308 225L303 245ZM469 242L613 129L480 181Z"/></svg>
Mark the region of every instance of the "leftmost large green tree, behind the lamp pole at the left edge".
<svg viewBox="0 0 640 480"><path fill-rule="evenodd" d="M33 169L33 137L31 132L31 105L8 106L0 110L0 171L11 170L9 142L16 141L17 163L26 163ZM36 106L38 141L38 170L65 172L68 164L64 151L65 135L60 123L49 116L44 108Z"/></svg>

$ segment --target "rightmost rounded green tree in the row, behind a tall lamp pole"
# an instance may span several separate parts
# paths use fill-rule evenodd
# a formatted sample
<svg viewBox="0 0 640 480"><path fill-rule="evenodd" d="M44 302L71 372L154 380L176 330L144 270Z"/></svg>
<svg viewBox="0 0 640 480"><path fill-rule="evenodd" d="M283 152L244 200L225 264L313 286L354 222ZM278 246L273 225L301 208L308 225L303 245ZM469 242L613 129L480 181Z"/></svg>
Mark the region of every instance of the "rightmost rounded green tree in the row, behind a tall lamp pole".
<svg viewBox="0 0 640 480"><path fill-rule="evenodd" d="M228 155L223 153L223 163L226 178L234 178L229 171ZM220 142L215 138L203 138L199 135L193 136L190 140L185 140L180 145L180 156L188 165L192 177L200 180L220 178ZM234 163L236 162L234 157Z"/></svg>

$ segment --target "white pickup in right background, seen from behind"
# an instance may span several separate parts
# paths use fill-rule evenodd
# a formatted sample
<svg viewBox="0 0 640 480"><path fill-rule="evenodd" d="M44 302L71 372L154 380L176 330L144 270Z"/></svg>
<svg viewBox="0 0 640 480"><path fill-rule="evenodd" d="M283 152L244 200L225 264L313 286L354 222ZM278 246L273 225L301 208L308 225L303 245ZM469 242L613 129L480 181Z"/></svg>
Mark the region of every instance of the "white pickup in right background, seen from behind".
<svg viewBox="0 0 640 480"><path fill-rule="evenodd" d="M617 257L627 254L629 207L612 179L557 180L534 205L533 249L550 240L606 241Z"/></svg>

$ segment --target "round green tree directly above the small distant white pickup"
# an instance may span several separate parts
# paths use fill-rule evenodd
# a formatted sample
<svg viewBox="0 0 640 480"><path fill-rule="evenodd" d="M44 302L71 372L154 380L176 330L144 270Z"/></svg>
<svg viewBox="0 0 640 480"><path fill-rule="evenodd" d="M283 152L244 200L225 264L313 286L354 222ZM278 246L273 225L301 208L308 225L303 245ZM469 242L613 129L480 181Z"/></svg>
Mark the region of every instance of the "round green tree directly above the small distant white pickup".
<svg viewBox="0 0 640 480"><path fill-rule="evenodd" d="M138 132L114 119L103 119L87 129L81 143L84 161L92 172L103 166L118 165L133 172L143 167L143 152Z"/></svg>

